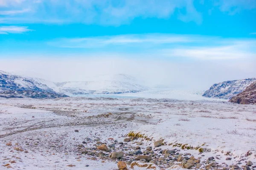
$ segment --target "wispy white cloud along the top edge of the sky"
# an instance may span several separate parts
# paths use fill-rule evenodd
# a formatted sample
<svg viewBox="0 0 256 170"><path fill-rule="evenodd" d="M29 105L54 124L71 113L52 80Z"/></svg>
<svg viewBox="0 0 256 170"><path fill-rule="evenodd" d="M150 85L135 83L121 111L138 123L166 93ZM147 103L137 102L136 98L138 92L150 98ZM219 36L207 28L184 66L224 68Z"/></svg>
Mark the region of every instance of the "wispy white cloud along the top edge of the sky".
<svg viewBox="0 0 256 170"><path fill-rule="evenodd" d="M9 17L8 23L35 23L51 18L65 23L120 25L136 17L169 18L184 8L186 13L180 14L180 20L199 24L202 20L192 0L0 0L1 6L2 14L20 13L19 18L24 19ZM24 12L24 8L31 10Z"/></svg>

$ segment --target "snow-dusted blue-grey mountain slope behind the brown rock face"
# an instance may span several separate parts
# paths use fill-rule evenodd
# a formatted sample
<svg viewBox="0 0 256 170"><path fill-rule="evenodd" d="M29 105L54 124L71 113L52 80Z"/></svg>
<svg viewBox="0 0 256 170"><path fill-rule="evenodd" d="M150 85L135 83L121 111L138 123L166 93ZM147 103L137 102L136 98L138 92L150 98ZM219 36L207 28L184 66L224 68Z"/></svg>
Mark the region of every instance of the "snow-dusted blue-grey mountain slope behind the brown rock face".
<svg viewBox="0 0 256 170"><path fill-rule="evenodd" d="M255 80L256 78L220 82L212 85L209 90L204 92L203 96L219 99L231 99L233 96L244 91L245 88Z"/></svg>

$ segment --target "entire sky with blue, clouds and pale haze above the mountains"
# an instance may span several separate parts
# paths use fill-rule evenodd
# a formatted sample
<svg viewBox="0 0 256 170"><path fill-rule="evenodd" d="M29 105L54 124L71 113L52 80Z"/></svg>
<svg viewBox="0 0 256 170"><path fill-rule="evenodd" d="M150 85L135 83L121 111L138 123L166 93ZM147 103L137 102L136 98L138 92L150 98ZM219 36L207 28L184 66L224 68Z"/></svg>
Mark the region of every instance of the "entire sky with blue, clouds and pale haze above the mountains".
<svg viewBox="0 0 256 170"><path fill-rule="evenodd" d="M0 0L0 70L188 90L256 77L256 0Z"/></svg>

